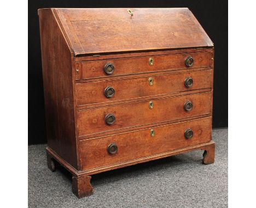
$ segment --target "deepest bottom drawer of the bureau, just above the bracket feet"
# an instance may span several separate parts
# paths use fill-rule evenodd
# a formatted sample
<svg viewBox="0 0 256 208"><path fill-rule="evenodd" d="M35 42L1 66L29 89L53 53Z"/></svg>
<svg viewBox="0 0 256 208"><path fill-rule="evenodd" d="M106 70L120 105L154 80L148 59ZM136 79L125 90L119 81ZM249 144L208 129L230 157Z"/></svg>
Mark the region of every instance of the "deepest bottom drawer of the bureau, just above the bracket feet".
<svg viewBox="0 0 256 208"><path fill-rule="evenodd" d="M189 131L190 129L191 131ZM176 124L156 126L153 128L130 131L106 137L81 140L79 142L80 163L83 170L107 166L109 164L136 160L174 149L181 149L211 140L211 117L190 120ZM152 136L152 130L154 136ZM193 136L191 138L185 137ZM115 145L109 154L110 144Z"/></svg>

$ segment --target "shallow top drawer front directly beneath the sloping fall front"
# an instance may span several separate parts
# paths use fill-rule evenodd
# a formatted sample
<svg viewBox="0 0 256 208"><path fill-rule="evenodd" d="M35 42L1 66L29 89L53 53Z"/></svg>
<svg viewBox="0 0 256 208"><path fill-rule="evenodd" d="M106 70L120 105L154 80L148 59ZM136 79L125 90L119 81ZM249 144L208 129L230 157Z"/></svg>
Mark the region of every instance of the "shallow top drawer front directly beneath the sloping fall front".
<svg viewBox="0 0 256 208"><path fill-rule="evenodd" d="M192 57L194 60L194 63L191 66L187 66L185 64L185 60L188 57ZM106 74L106 72L104 71L104 67L106 66L106 64L112 64L114 66L114 70L109 70L109 74ZM82 62L82 79L112 77L119 75L168 71L186 68L203 68L210 66L210 64L211 52L182 53L161 56L86 61Z"/></svg>

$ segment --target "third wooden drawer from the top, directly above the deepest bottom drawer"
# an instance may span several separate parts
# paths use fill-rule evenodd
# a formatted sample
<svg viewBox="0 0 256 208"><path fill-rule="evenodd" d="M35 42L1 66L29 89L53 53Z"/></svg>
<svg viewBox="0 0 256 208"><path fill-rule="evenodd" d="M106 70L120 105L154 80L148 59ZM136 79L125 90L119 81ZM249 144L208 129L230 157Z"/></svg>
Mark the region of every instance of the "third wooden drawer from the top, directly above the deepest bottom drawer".
<svg viewBox="0 0 256 208"><path fill-rule="evenodd" d="M98 132L156 124L163 121L211 113L211 98L212 92L210 91L207 93L84 109L77 113L78 134L79 136L85 136ZM192 103L193 108L191 111L185 111L184 103L186 102ZM109 124L106 124L106 119ZM110 124L114 119L114 123Z"/></svg>

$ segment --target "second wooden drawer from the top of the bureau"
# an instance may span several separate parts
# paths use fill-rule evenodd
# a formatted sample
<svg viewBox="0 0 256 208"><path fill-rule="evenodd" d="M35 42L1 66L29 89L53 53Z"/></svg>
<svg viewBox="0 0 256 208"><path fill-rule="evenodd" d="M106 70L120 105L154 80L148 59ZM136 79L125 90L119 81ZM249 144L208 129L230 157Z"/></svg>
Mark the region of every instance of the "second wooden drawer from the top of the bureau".
<svg viewBox="0 0 256 208"><path fill-rule="evenodd" d="M190 86L191 80L193 85ZM94 103L109 105L114 101L206 88L212 88L212 70L79 83L77 106Z"/></svg>

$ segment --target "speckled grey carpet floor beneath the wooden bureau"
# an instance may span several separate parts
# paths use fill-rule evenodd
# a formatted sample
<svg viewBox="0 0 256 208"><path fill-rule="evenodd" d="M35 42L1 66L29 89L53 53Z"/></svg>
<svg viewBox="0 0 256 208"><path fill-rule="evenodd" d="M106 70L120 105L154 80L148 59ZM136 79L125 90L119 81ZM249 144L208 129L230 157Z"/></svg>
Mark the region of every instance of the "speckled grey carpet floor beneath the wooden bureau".
<svg viewBox="0 0 256 208"><path fill-rule="evenodd" d="M78 199L71 175L46 166L46 145L28 146L28 207L228 207L228 129L213 130L216 162L201 150L92 176L94 194Z"/></svg>

